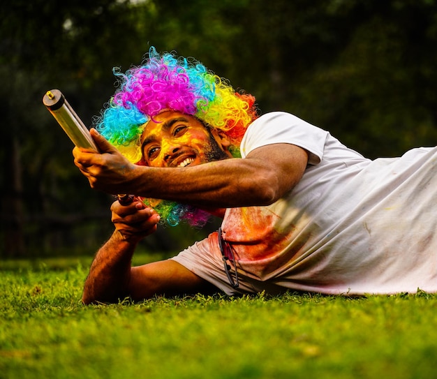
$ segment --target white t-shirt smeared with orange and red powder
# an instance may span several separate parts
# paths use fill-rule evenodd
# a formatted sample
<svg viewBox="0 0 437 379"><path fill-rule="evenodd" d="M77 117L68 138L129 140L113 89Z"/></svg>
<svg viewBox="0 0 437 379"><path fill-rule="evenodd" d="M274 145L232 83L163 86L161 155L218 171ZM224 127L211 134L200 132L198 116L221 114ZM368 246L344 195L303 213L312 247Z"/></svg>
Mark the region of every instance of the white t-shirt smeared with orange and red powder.
<svg viewBox="0 0 437 379"><path fill-rule="evenodd" d="M436 148L371 161L327 131L272 112L249 126L242 156L276 143L306 149L309 165L272 205L226 211L239 288L225 275L216 233L172 259L228 294L437 292Z"/></svg>

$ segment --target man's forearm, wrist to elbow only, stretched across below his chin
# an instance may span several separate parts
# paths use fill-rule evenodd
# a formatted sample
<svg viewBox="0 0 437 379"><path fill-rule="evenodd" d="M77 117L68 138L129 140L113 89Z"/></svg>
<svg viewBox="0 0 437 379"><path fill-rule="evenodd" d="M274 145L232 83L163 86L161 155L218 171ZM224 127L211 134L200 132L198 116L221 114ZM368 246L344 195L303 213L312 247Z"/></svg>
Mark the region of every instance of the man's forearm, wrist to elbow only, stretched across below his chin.
<svg viewBox="0 0 437 379"><path fill-rule="evenodd" d="M256 165L241 165L239 161L242 160L228 159L192 168L142 167L135 174L131 190L147 198L198 207L228 208L268 202L272 186L263 184L269 179L262 177ZM253 186L254 180L257 186Z"/></svg>

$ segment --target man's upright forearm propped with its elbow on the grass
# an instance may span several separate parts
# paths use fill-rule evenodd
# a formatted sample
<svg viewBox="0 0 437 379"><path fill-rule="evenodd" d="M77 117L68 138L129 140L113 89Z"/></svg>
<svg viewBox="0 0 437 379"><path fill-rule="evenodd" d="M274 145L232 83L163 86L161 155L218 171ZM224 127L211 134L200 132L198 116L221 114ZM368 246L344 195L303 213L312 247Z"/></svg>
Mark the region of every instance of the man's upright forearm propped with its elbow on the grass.
<svg viewBox="0 0 437 379"><path fill-rule="evenodd" d="M137 241L127 241L117 231L97 252L84 283L82 302L117 302L128 296L131 260Z"/></svg>

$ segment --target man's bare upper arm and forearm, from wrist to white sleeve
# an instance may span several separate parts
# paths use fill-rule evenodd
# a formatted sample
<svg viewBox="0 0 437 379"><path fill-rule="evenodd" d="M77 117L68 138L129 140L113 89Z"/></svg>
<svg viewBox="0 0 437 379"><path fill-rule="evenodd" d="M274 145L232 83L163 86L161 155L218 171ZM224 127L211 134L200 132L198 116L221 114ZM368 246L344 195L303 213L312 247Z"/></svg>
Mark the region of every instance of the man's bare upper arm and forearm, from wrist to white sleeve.
<svg viewBox="0 0 437 379"><path fill-rule="evenodd" d="M128 186L133 193L146 198L198 207L269 205L299 182L307 161L303 149L290 144L269 145L244 159L225 159L187 168L138 166Z"/></svg>

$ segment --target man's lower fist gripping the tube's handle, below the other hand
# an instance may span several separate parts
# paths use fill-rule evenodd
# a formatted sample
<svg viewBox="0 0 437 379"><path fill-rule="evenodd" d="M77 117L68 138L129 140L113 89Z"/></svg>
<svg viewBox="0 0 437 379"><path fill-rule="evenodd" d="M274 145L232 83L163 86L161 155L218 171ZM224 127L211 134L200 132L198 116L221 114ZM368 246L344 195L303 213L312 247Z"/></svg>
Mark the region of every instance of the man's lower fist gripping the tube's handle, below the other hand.
<svg viewBox="0 0 437 379"><path fill-rule="evenodd" d="M117 200L112 203L111 211L115 230L124 241L137 243L156 232L159 215L140 201L134 200L130 205L121 205Z"/></svg>

